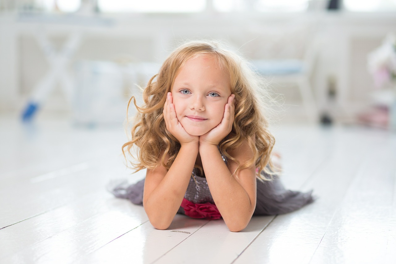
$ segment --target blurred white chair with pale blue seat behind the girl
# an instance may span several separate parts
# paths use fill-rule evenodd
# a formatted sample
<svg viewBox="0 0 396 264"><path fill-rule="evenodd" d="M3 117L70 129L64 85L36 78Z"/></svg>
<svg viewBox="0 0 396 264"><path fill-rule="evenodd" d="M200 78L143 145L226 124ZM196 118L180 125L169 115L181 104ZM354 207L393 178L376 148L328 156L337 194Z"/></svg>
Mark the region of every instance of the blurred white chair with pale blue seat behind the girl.
<svg viewBox="0 0 396 264"><path fill-rule="evenodd" d="M260 36L246 44L249 47L244 47L244 50L252 51L253 65L270 84L298 87L310 121L319 118L310 78L320 42L320 37L309 27L299 25L261 31Z"/></svg>

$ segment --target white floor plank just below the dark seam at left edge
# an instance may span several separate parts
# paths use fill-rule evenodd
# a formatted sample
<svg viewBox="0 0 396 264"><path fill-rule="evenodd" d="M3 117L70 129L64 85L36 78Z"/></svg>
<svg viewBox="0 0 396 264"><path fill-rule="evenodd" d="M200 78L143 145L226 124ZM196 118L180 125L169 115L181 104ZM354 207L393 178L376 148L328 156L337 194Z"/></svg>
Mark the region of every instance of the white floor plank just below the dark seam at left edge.
<svg viewBox="0 0 396 264"><path fill-rule="evenodd" d="M19 254L19 251L110 210L118 210L122 214L133 217L135 220L131 221L131 228L133 228L133 223L137 227L148 220L141 207L132 205L126 200L114 199L110 193L106 193L104 190L89 193L72 203L1 230L0 259L15 253ZM22 237L23 239L21 239Z"/></svg>

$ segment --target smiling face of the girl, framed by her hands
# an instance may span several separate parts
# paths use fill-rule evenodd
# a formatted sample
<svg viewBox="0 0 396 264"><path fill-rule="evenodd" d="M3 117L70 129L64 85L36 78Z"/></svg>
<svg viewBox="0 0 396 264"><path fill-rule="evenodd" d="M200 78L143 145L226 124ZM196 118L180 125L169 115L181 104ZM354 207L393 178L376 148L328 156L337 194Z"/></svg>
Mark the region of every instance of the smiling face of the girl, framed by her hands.
<svg viewBox="0 0 396 264"><path fill-rule="evenodd" d="M231 95L228 74L212 55L186 61L171 89L177 119L193 136L202 136L220 124Z"/></svg>

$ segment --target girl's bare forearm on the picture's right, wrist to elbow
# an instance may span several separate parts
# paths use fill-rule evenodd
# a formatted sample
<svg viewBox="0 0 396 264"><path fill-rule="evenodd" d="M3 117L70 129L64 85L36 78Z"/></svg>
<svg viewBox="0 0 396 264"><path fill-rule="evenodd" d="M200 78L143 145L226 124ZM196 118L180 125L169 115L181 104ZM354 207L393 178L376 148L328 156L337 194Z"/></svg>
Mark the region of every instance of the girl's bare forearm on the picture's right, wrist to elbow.
<svg viewBox="0 0 396 264"><path fill-rule="evenodd" d="M221 216L231 231L246 227L255 209L255 197L232 176L216 145L200 145L202 166Z"/></svg>

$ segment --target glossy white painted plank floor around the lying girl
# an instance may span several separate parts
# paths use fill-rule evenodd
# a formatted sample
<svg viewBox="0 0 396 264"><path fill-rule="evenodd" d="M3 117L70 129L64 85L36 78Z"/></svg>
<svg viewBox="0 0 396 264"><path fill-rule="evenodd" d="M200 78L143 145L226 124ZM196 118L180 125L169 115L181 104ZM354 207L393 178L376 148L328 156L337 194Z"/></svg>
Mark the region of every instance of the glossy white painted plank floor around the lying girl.
<svg viewBox="0 0 396 264"><path fill-rule="evenodd" d="M142 207L106 191L129 178L122 127L23 125L0 117L0 263L396 263L396 134L357 127L274 130L291 189L318 199L286 215L177 215L155 230Z"/></svg>

